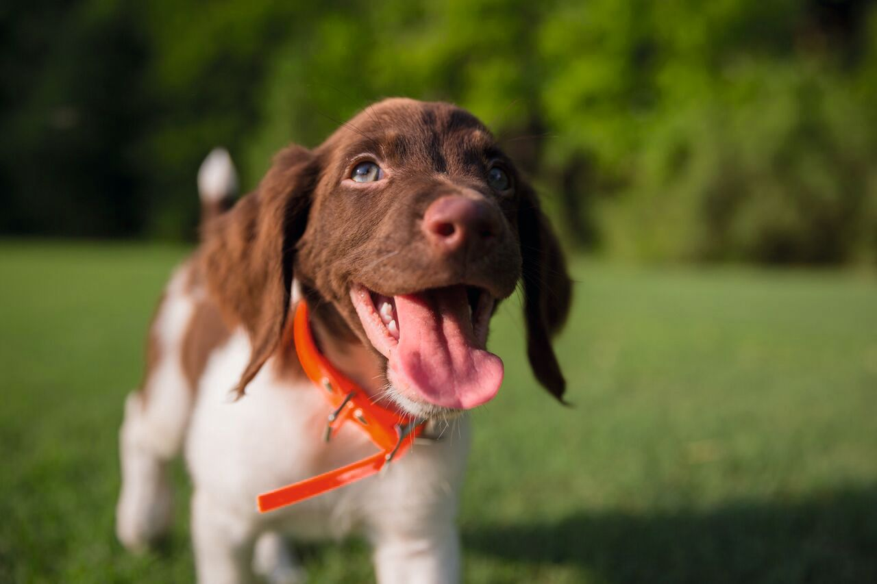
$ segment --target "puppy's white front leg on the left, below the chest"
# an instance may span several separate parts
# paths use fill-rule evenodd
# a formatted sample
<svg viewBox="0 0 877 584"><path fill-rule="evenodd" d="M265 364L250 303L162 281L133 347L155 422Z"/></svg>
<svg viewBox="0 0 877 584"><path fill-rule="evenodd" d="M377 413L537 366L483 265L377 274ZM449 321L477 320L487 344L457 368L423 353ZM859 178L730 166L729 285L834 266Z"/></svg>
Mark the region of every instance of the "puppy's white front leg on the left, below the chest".
<svg viewBox="0 0 877 584"><path fill-rule="evenodd" d="M253 580L253 524L227 504L196 490L192 497L192 539L201 584L243 584Z"/></svg>

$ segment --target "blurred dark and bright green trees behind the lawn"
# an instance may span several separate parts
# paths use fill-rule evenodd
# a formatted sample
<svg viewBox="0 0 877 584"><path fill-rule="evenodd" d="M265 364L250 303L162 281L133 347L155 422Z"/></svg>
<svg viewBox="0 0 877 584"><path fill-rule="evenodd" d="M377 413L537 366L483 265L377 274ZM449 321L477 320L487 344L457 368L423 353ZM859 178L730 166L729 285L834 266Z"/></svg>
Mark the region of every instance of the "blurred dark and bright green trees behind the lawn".
<svg viewBox="0 0 877 584"><path fill-rule="evenodd" d="M877 262L863 0L32 0L0 8L0 232L191 239L382 96L460 103L567 243L634 260Z"/></svg>

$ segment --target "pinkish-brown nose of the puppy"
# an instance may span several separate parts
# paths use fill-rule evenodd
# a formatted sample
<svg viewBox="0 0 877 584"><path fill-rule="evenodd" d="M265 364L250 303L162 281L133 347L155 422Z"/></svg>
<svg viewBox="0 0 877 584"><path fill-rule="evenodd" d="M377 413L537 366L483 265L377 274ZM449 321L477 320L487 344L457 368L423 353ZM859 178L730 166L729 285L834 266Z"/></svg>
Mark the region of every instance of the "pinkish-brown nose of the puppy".
<svg viewBox="0 0 877 584"><path fill-rule="evenodd" d="M496 211L487 203L463 196L443 196L424 213L424 232L431 244L446 253L461 247L484 250L499 235Z"/></svg>

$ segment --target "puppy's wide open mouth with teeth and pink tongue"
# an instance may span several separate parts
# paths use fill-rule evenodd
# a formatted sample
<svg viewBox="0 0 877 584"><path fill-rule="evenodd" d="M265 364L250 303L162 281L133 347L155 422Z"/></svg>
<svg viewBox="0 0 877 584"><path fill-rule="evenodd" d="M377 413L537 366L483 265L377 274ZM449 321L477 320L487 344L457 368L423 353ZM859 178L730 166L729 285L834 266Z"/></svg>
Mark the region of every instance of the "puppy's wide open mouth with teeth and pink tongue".
<svg viewBox="0 0 877 584"><path fill-rule="evenodd" d="M404 397L467 410L496 395L503 360L485 348L494 307L488 292L457 285L382 296L354 284L350 296Z"/></svg>

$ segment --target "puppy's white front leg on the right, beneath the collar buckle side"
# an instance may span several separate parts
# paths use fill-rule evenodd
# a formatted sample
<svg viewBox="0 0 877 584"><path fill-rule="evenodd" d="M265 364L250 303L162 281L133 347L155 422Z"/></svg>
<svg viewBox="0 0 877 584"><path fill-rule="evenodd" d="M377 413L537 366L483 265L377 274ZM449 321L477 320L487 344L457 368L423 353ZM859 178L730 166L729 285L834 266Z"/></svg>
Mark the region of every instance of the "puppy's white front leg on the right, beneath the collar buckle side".
<svg viewBox="0 0 877 584"><path fill-rule="evenodd" d="M453 584L460 581L460 537L453 523L415 533L372 534L374 570L381 584Z"/></svg>

